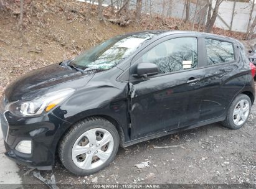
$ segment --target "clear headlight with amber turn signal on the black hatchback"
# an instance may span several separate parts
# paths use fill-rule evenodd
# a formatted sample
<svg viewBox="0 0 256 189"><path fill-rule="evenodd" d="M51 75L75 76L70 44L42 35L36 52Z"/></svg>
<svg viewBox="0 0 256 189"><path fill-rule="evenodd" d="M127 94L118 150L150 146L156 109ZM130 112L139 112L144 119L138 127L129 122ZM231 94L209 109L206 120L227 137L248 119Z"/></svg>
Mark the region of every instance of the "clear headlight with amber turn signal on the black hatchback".
<svg viewBox="0 0 256 189"><path fill-rule="evenodd" d="M35 116L49 112L52 108L68 98L75 90L68 88L39 96L32 101L15 101L7 104L6 110L22 116Z"/></svg>

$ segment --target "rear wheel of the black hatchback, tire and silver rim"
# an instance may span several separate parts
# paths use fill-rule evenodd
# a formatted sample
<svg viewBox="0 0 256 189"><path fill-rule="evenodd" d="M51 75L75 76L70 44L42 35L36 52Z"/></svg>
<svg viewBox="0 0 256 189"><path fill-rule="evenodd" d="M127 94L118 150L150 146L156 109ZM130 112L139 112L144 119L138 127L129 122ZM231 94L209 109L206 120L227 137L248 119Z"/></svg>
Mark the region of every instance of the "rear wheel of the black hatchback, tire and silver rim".
<svg viewBox="0 0 256 189"><path fill-rule="evenodd" d="M241 107L240 102L242 101L244 101L244 103L241 103L243 104L243 108L241 109L239 107ZM244 110L247 108L245 107L248 108L246 114ZM222 122L222 124L229 129L240 129L247 122L247 119L249 118L249 115L250 115L251 107L252 107L252 102L249 96L245 94L239 94L231 103L229 110L227 111L227 116L225 120ZM240 113L236 114L237 112L240 112ZM243 117L242 114L244 114L245 117ZM241 121L239 121L239 119Z"/></svg>

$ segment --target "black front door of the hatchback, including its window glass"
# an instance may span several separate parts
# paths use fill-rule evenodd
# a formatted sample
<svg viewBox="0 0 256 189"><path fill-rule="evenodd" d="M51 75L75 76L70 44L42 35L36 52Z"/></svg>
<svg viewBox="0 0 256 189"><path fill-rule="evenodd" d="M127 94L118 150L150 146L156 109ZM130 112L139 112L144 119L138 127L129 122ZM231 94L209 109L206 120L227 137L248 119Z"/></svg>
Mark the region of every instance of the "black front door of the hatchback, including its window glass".
<svg viewBox="0 0 256 189"><path fill-rule="evenodd" d="M159 74L130 76L131 139L170 131L199 118L203 69L196 37L161 39L133 63L155 63Z"/></svg>

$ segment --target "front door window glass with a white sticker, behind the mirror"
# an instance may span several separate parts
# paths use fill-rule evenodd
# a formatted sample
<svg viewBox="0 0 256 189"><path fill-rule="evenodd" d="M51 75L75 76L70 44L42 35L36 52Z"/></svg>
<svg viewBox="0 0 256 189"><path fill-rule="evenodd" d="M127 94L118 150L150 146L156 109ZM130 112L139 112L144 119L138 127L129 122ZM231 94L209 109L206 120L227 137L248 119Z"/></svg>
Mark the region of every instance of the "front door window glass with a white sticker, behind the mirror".
<svg viewBox="0 0 256 189"><path fill-rule="evenodd" d="M196 68L197 39L180 37L166 40L151 48L138 61L155 63L159 67L159 73Z"/></svg>

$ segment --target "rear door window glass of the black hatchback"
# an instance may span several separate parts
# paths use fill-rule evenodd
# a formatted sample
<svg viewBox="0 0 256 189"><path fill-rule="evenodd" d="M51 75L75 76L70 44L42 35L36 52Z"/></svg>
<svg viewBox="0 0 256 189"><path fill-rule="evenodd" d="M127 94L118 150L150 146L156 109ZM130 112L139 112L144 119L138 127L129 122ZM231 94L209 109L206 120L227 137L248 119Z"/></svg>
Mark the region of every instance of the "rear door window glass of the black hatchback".
<svg viewBox="0 0 256 189"><path fill-rule="evenodd" d="M207 65L235 60L233 44L216 39L206 39Z"/></svg>

